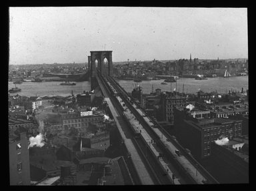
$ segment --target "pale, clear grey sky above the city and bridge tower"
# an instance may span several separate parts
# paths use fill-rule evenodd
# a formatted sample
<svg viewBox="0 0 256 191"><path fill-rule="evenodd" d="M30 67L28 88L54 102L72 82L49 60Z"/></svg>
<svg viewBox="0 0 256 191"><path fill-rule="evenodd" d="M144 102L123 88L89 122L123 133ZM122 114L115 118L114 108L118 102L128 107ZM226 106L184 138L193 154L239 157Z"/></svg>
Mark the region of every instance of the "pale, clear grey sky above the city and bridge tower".
<svg viewBox="0 0 256 191"><path fill-rule="evenodd" d="M248 57L246 8L10 7L9 64Z"/></svg>

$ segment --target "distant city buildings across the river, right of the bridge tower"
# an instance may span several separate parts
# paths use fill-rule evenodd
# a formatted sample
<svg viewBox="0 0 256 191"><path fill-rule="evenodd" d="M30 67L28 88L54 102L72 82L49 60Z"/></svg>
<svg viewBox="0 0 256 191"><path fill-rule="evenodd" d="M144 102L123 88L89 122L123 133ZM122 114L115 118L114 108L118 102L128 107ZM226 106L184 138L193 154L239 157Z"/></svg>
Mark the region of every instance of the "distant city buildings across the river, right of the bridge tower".
<svg viewBox="0 0 256 191"><path fill-rule="evenodd" d="M135 77L145 74L147 77L152 75L202 75L217 74L224 75L225 70L230 73L247 71L248 61L199 61L199 59L179 59L177 61L144 61L128 62L127 64L117 65L113 69L114 75ZM154 71L154 72L153 72Z"/></svg>

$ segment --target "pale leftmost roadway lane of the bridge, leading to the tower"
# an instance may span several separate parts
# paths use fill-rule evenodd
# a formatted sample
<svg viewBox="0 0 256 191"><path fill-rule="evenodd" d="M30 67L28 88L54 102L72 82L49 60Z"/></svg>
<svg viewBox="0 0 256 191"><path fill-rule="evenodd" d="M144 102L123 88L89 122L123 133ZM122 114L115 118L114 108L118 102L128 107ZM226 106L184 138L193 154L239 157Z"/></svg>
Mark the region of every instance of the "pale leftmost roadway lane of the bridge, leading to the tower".
<svg viewBox="0 0 256 191"><path fill-rule="evenodd" d="M129 134L129 130L125 125L123 124L121 125L120 116L119 114L117 114L117 111L115 110L115 107L113 106L109 98L109 93L107 93L106 89L104 88L104 85L102 84L101 80L99 80L99 78L97 78L97 81L99 83L99 86L101 87L101 91L103 95L105 96L105 101L107 101L107 104L109 105L109 109L111 110L113 118L117 124L117 128L121 134L121 137L123 138L123 142L128 152L131 154L131 160L133 161L135 170L137 170L137 174L139 176L141 184L147 184L147 185L155 184L155 181L153 180L153 178L151 178L151 173L145 166L139 152L137 152L137 149L133 144L133 141L131 139L132 136L131 134Z"/></svg>

